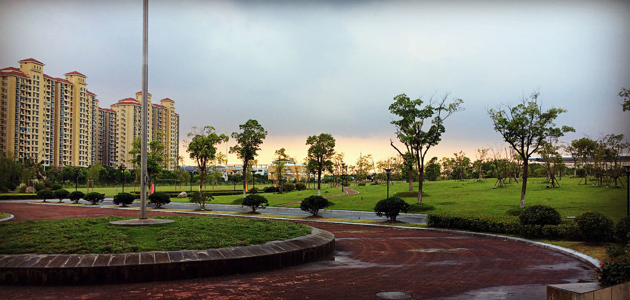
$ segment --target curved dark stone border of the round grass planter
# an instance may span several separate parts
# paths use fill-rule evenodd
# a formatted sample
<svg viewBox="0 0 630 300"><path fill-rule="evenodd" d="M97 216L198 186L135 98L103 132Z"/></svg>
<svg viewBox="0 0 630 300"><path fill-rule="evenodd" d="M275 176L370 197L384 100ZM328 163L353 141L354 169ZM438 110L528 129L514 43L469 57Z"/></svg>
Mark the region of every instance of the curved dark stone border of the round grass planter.
<svg viewBox="0 0 630 300"><path fill-rule="evenodd" d="M0 255L0 284L76 285L168 281L273 270L328 257L335 235L311 234L260 245L120 254Z"/></svg>

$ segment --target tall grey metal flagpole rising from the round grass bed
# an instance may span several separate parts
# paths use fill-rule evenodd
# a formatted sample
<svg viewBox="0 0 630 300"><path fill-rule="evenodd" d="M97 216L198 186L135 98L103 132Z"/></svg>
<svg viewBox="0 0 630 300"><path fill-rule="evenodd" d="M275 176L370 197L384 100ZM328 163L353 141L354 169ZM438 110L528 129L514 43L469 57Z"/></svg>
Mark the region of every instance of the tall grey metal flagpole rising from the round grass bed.
<svg viewBox="0 0 630 300"><path fill-rule="evenodd" d="M147 138L149 135L148 109L149 97L147 92L147 77L149 66L147 56L149 50L149 0L142 1L142 150L140 152L140 219L147 218Z"/></svg>

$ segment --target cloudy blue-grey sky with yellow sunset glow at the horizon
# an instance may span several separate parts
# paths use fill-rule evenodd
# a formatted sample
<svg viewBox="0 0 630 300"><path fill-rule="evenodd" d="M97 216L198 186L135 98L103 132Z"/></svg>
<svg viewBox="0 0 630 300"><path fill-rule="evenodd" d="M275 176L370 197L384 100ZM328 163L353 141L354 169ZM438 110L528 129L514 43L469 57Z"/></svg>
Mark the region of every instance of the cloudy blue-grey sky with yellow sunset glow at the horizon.
<svg viewBox="0 0 630 300"><path fill-rule="evenodd" d="M103 108L142 89L142 1L0 0L0 41L0 68L81 72ZM149 92L175 101L185 158L193 126L231 135L247 119L268 131L259 164L279 148L302 161L319 133L350 164L394 156L399 94L464 101L429 157L505 147L486 111L533 91L568 110L563 142L630 138L617 96L630 88L627 1L149 1L148 53Z"/></svg>

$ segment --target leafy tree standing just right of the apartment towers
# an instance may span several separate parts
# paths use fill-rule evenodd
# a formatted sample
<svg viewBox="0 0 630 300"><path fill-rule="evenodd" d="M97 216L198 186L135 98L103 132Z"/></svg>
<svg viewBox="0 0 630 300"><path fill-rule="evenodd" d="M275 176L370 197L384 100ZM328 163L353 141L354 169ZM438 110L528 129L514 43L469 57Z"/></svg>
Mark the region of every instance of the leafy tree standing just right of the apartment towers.
<svg viewBox="0 0 630 300"><path fill-rule="evenodd" d="M193 126L192 130L193 132L188 133L188 136L192 136L192 139L188 143L186 152L188 152L190 159L195 162L199 170L199 191L201 191L207 169L217 155L217 147L215 145L227 142L229 137L223 134L217 135L212 126L205 126L200 130Z"/></svg>

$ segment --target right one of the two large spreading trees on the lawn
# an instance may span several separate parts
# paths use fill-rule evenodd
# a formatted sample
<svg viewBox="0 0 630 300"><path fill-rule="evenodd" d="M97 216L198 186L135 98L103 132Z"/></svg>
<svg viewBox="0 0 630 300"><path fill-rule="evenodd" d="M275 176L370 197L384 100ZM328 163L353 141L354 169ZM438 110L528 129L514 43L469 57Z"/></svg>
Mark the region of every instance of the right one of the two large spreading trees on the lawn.
<svg viewBox="0 0 630 300"><path fill-rule="evenodd" d="M517 106L506 105L507 112L498 109L488 111L495 131L523 158L520 208L525 207L529 157L538 151L546 138L558 138L568 131L575 131L569 126L556 127L554 120L559 114L566 113L566 109L550 108L542 111L538 103L539 96L539 92L534 92L529 97L523 97Z"/></svg>

